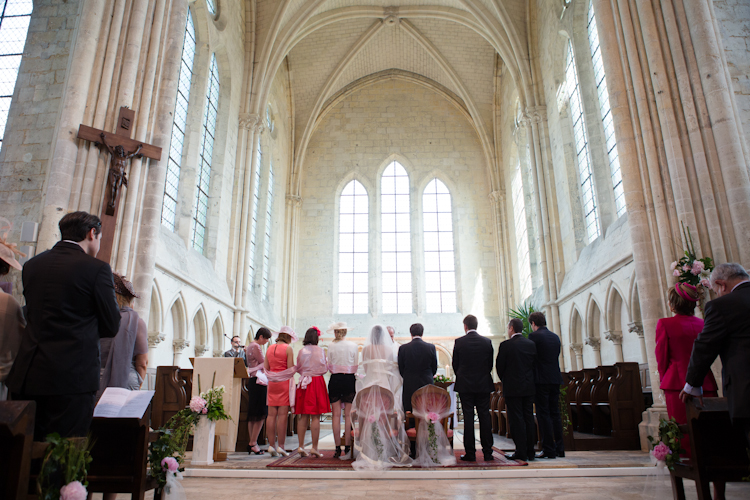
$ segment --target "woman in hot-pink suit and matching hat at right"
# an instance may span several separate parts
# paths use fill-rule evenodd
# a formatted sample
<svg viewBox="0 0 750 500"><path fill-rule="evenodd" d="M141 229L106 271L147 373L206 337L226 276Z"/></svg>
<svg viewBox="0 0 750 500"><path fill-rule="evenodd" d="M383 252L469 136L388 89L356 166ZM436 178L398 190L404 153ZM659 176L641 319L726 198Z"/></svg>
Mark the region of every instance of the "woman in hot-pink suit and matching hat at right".
<svg viewBox="0 0 750 500"><path fill-rule="evenodd" d="M693 342L703 330L703 320L695 317L695 306L699 295L696 287L689 283L677 283L669 289L671 318L662 318L656 323L656 362L659 367L659 387L664 391L667 414L678 424L687 423L685 404L680 401L680 390L685 386L690 353ZM717 396L716 379L708 372L703 382L703 395ZM682 448L690 456L690 441L683 439Z"/></svg>

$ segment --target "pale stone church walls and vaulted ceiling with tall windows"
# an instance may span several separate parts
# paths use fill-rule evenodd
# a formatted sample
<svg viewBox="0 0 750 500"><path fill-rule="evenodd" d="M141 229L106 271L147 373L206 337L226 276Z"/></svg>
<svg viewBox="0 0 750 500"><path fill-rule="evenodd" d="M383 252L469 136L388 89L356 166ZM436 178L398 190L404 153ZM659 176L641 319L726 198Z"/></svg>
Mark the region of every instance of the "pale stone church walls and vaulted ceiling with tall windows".
<svg viewBox="0 0 750 500"><path fill-rule="evenodd" d="M637 365L647 456L671 263L692 244L750 267L747 1L0 3L0 216L22 262L66 213L107 209L110 152L81 126L160 148L127 159L99 257L139 294L144 389L234 336L338 321L360 345L421 323L451 378L466 315L497 352L531 306L561 371Z"/></svg>

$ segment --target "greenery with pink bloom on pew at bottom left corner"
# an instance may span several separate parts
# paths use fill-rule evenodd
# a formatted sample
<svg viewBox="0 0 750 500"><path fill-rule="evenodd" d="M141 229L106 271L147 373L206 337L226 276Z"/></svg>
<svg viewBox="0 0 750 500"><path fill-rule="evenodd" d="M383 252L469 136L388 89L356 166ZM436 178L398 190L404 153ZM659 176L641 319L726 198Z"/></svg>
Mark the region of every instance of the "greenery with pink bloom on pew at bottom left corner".
<svg viewBox="0 0 750 500"><path fill-rule="evenodd" d="M61 438L56 432L47 436L42 470L37 477L40 500L86 500L91 443L88 438Z"/></svg>

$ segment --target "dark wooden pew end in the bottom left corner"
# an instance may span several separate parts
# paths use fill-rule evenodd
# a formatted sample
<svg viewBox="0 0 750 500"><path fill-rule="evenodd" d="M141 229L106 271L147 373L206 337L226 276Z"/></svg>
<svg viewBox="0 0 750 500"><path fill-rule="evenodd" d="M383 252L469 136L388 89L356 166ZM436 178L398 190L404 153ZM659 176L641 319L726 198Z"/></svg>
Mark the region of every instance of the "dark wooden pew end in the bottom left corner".
<svg viewBox="0 0 750 500"><path fill-rule="evenodd" d="M0 498L26 498L35 410L34 401L0 401Z"/></svg>

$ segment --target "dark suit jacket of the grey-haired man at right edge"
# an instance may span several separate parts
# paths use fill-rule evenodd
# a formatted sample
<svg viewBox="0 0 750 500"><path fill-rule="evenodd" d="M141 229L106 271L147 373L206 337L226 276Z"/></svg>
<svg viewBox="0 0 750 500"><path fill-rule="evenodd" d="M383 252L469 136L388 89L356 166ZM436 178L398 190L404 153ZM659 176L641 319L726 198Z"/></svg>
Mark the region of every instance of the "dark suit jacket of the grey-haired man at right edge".
<svg viewBox="0 0 750 500"><path fill-rule="evenodd" d="M688 384L700 387L721 356L724 396L732 418L750 418L750 283L706 304L703 331L690 355Z"/></svg>

